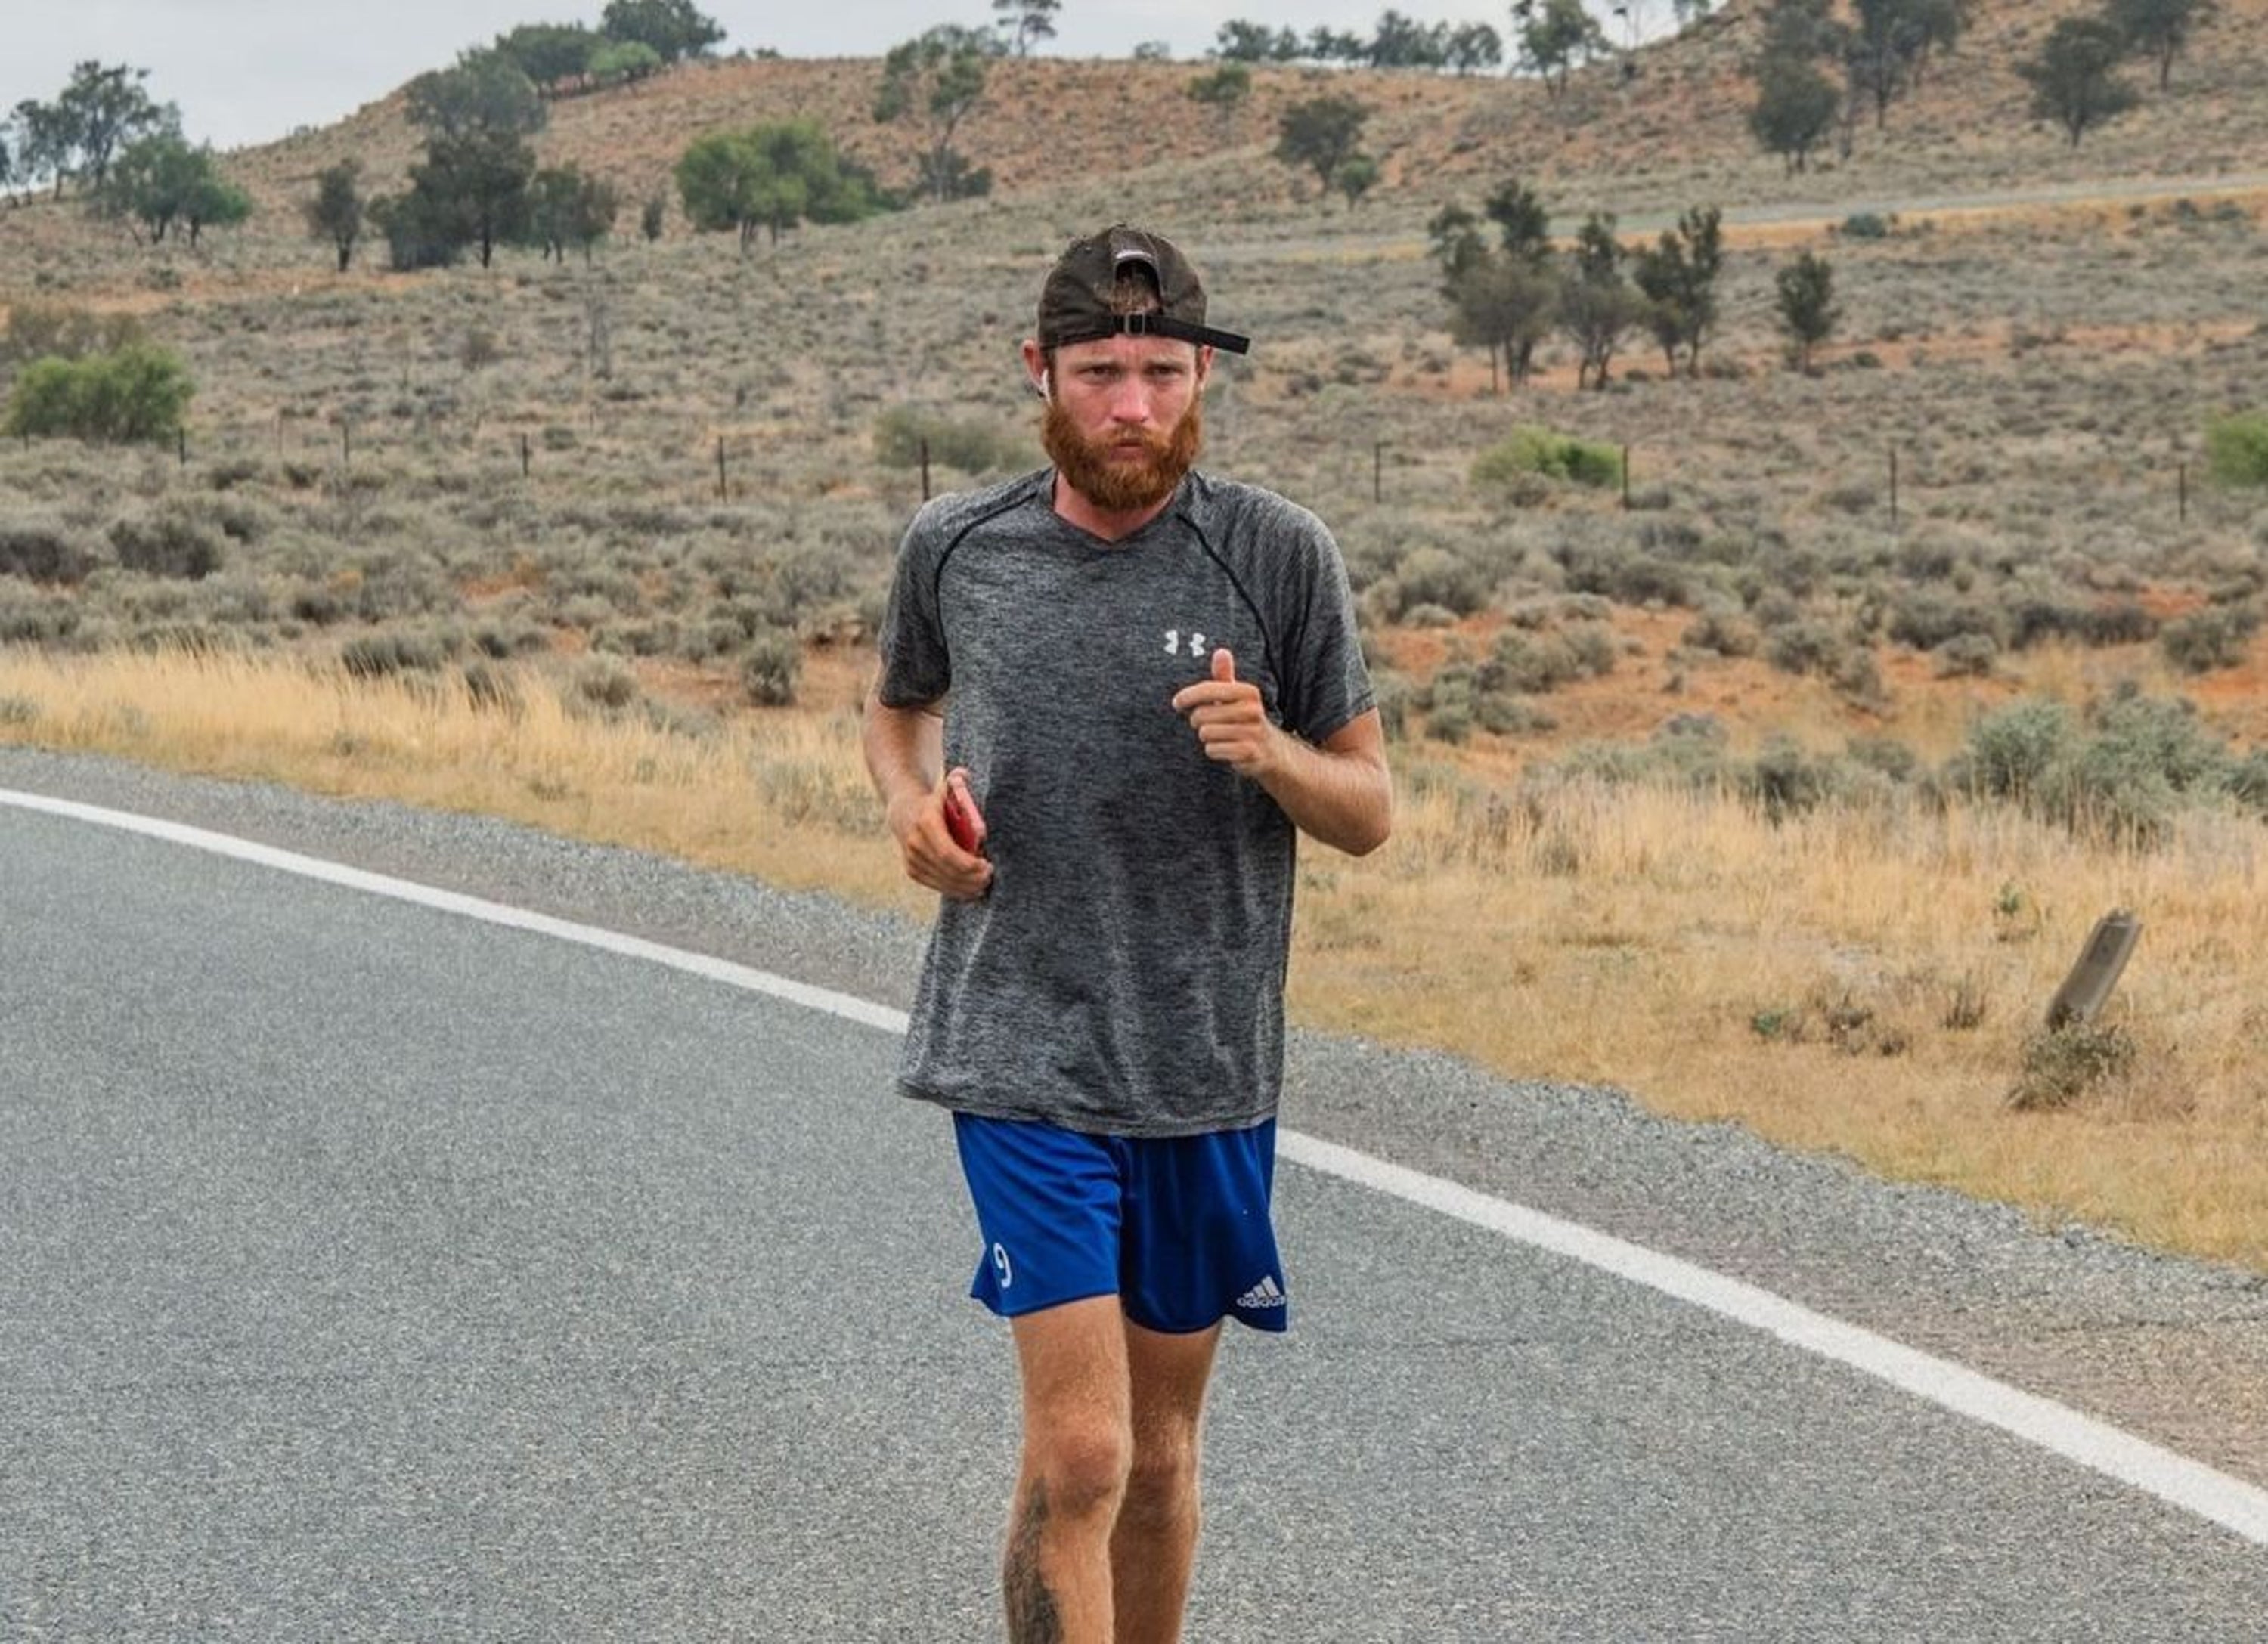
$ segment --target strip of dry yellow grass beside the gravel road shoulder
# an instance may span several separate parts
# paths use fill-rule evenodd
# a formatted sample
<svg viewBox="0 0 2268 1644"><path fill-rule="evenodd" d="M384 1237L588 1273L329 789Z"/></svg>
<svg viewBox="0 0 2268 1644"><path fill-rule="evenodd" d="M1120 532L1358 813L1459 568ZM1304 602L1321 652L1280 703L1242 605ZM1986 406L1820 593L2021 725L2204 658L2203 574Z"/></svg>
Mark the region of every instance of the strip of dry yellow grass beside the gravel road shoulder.
<svg viewBox="0 0 2268 1644"><path fill-rule="evenodd" d="M240 655L0 651L0 739L485 812L921 909L848 712L708 737L458 683ZM1817 812L1490 789L1404 757L1395 841L1302 868L1304 1023L1613 1082L1685 1118L2268 1270L2268 898L2259 828L2114 853L2005 810ZM2012 1111L2025 1039L2093 921L2143 939L2109 1020L2132 1073ZM1962 1011L1975 1025L1960 1023Z"/></svg>

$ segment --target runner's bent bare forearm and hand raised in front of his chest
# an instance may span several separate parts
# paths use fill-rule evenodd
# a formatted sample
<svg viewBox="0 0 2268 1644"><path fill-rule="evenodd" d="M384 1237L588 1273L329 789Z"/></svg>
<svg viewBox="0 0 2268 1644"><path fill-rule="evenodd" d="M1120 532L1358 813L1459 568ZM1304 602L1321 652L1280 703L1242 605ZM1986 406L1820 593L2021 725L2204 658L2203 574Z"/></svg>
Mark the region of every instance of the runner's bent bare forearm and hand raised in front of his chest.
<svg viewBox="0 0 2268 1644"><path fill-rule="evenodd" d="M1356 714L1322 744L1272 726L1261 687L1236 678L1236 658L1213 651L1213 678L1184 687L1173 705L1188 717L1204 757L1250 776L1300 832L1363 857L1395 825L1395 782L1386 769L1379 714Z"/></svg>

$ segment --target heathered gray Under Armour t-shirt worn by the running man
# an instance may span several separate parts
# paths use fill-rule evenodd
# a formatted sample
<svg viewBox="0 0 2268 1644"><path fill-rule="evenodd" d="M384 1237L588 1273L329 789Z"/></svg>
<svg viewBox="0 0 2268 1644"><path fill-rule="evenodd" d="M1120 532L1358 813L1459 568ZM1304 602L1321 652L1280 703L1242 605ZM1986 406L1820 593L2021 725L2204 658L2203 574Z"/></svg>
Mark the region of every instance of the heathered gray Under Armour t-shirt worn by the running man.
<svg viewBox="0 0 2268 1644"><path fill-rule="evenodd" d="M1284 1084L1293 839L1173 710L1216 646L1320 744L1372 705L1329 531L1191 474L1102 542L1052 469L923 506L882 621L880 698L943 698L989 828L984 900L946 900L900 1084L964 1113L1118 1136L1270 1118Z"/></svg>

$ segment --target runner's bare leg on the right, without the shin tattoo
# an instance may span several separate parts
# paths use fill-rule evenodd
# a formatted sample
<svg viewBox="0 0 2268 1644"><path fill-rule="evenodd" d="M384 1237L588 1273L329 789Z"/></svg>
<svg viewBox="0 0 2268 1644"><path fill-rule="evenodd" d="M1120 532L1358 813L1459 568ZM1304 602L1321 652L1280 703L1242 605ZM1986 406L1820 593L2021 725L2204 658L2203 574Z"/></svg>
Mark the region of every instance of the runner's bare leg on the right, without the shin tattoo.
<svg viewBox="0 0 2268 1644"><path fill-rule="evenodd" d="M1198 1558L1198 1426L1220 1327L1166 1336L1125 1322L1134 1460L1111 1531L1116 1644L1175 1644Z"/></svg>

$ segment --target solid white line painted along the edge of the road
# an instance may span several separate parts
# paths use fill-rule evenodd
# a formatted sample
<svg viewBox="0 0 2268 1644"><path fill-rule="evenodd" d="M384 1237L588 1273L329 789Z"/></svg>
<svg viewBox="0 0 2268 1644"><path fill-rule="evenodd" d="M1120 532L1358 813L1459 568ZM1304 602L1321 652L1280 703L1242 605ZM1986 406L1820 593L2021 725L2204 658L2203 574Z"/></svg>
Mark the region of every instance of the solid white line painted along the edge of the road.
<svg viewBox="0 0 2268 1644"><path fill-rule="evenodd" d="M789 1005L828 1011L830 1016L841 1016L844 1020L875 1027L887 1034L905 1032L905 1011L894 1011L850 993L807 986L789 977L771 975L769 971L755 971L726 959L669 948L642 937L624 937L596 925L578 925L567 918L551 918L549 914L533 914L522 907L488 902L479 896L438 891L429 884L397 880L386 873L365 873L363 868L324 862L322 857L277 850L274 846L254 844L249 839L236 839L204 828L188 828L154 816L104 810L100 805L79 805L75 800L48 798L43 794L18 794L11 789L0 789L0 805L66 816L70 821L95 823L100 828L118 828L150 839L163 839L168 844L234 857L238 862L252 862L279 873L297 873L308 880L342 884L356 891L370 891L372 896L388 896L399 902L433 907L445 914L463 914L465 918L481 918L510 930L556 937L560 941L583 943L585 948L615 952L626 959L665 964L674 971L685 971L689 975L723 982L751 993L764 993ZM1987 1426L1998 1426L2028 1444L2037 1444L2039 1449L2062 1456L2064 1460L2143 1490L2170 1506L2195 1512L2202 1519L2211 1519L2248 1542L2268 1546L2268 1490L2152 1444L2123 1429L2109 1426L2107 1422L2098 1422L2057 1404L2055 1399L2041 1399L2023 1392L2021 1388L2012 1388L2005 1381L1994 1381L1991 1376L1966 1370L1948 1358L1903 1347L1887 1336L1876 1336L1873 1331L1844 1324L1826 1313L1814 1313L1812 1308L1799 1306L1796 1302L1774 1295L1771 1290L1760 1290L1753 1283L1742 1283L1740 1279L1699 1268L1690 1261L1665 1256L1658 1249L1613 1238L1610 1234L1583 1227L1581 1222L1565 1222L1556 1215L1545 1215L1542 1211L1513 1204L1510 1200L1476 1193L1458 1186L1456 1181L1406 1170L1404 1166L1388 1163L1386 1159L1374 1159L1352 1147L1340 1147L1338 1143L1304 1136L1300 1132L1277 1132L1277 1143L1286 1159L1309 1170L1340 1177L1356 1186L1372 1188L1374 1193L1390 1193L1393 1197L1424 1206L1440 1215L1452 1215L1522 1245L1599 1268L1601 1272L1610 1272L1617 1279L1628 1279L1631 1283L1676 1297L1678 1302L1690 1302L1692 1306L1717 1313L1735 1324L1746 1324L1749 1329L1776 1336L1789 1347L1799 1347L1808 1354L1848 1365L1851 1370L1878 1381L1887 1381L1889 1385L1944 1410L1966 1415L1975 1422L1984 1422Z"/></svg>

